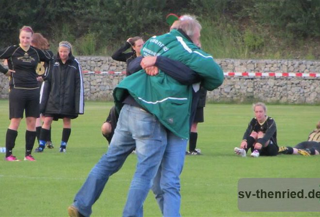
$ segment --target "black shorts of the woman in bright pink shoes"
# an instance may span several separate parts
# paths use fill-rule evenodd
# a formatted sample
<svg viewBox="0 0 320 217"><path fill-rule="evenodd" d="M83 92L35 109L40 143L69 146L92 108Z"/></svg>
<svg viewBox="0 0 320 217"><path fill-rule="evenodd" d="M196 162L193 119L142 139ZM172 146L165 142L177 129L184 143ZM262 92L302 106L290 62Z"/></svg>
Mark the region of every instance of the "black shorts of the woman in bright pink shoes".
<svg viewBox="0 0 320 217"><path fill-rule="evenodd" d="M26 117L39 117L40 90L11 88L9 92L9 119Z"/></svg>

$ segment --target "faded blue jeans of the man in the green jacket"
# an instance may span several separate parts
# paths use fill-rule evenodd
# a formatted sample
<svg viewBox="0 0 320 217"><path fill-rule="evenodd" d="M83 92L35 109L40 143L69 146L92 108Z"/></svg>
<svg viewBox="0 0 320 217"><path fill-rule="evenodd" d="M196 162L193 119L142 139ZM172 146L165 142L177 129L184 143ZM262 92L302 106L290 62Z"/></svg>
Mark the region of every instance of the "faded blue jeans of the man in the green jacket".
<svg viewBox="0 0 320 217"><path fill-rule="evenodd" d="M125 104L107 153L89 173L73 205L82 215L89 217L92 205L99 198L109 177L122 167L128 155L136 148L137 169L131 181L123 216L142 215L142 205L166 145L167 132L158 119L138 107Z"/></svg>

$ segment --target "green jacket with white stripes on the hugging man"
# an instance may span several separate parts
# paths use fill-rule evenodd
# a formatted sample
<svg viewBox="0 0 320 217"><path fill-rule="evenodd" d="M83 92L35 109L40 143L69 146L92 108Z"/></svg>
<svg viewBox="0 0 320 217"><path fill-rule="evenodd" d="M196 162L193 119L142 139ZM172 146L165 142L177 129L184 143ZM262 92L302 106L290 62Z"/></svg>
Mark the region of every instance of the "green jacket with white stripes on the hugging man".
<svg viewBox="0 0 320 217"><path fill-rule="evenodd" d="M150 38L142 48L143 56L165 56L180 61L197 72L201 85L213 90L223 83L224 74L213 58L194 45L184 34L173 29ZM181 138L189 138L192 86L184 86L159 70L149 76L140 70L123 79L113 91L116 107L130 94L143 108Z"/></svg>

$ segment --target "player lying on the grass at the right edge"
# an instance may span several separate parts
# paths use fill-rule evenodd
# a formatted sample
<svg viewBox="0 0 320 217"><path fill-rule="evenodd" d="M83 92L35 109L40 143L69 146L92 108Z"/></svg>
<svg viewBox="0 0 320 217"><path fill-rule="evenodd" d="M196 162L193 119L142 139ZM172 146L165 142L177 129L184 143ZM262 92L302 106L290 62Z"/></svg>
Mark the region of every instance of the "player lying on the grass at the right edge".
<svg viewBox="0 0 320 217"><path fill-rule="evenodd" d="M320 121L317 124L317 128L313 130L309 136L308 140L301 142L294 147L282 146L279 148L279 154L286 155L319 155L320 153Z"/></svg>

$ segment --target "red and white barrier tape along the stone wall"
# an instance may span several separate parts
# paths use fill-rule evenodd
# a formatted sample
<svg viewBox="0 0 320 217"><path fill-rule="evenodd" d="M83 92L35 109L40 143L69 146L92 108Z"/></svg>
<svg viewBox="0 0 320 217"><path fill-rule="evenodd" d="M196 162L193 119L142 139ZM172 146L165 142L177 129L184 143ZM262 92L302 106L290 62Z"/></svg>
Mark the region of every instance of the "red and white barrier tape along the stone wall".
<svg viewBox="0 0 320 217"><path fill-rule="evenodd" d="M114 71L82 71L82 73L91 73L91 74L126 74L123 72L114 72ZM320 73L289 73L289 72L224 72L224 76L233 77L233 76L254 76L254 77L320 77Z"/></svg>

